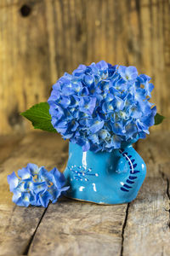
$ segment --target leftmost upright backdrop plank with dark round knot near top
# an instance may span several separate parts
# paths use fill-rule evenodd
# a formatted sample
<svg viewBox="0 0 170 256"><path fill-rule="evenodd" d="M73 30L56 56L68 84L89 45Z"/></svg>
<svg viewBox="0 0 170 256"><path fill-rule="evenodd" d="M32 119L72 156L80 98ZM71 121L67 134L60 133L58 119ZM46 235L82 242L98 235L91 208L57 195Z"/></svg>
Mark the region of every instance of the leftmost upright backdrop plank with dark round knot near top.
<svg viewBox="0 0 170 256"><path fill-rule="evenodd" d="M28 129L20 112L46 101L51 85L45 4L18 2L0 8L0 133Z"/></svg>

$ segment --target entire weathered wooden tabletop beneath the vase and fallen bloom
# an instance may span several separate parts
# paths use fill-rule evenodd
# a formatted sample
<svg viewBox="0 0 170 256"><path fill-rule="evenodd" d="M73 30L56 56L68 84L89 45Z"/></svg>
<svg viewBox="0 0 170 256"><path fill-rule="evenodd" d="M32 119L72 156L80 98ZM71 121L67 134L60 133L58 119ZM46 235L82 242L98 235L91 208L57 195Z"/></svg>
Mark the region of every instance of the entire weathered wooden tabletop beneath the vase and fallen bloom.
<svg viewBox="0 0 170 256"><path fill-rule="evenodd" d="M63 198L47 209L15 206L7 175L28 162L63 171L67 146L46 132L0 137L0 255L170 255L170 132L152 132L137 144L147 177L129 204Z"/></svg>

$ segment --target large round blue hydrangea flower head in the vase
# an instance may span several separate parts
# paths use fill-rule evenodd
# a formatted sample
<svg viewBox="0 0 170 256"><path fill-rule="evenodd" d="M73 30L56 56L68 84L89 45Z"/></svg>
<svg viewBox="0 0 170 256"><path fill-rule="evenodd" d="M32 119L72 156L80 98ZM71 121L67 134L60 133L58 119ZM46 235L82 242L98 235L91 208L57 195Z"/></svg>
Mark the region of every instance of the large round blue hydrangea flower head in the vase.
<svg viewBox="0 0 170 256"><path fill-rule="evenodd" d="M154 85L136 67L105 61L80 65L53 85L48 98L52 125L83 151L108 151L144 138L154 125Z"/></svg>

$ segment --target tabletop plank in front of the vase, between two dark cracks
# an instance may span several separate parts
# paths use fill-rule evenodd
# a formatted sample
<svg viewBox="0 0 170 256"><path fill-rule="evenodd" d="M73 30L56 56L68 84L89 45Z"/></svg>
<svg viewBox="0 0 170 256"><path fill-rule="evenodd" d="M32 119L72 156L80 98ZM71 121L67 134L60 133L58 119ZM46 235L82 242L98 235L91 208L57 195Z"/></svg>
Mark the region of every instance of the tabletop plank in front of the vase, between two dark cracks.
<svg viewBox="0 0 170 256"><path fill-rule="evenodd" d="M66 199L50 205L28 255L120 255L126 208Z"/></svg>

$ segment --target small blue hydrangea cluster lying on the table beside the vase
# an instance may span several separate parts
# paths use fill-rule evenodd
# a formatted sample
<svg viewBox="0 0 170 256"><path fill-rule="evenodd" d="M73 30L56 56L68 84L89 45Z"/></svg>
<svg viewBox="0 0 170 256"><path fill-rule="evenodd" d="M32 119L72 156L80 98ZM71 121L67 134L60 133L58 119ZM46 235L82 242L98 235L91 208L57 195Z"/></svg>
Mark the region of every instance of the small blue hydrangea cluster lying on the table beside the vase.
<svg viewBox="0 0 170 256"><path fill-rule="evenodd" d="M28 164L26 168L8 175L8 184L14 193L13 201L20 207L48 207L49 201L55 203L65 187L65 176L54 168L48 172L43 166Z"/></svg>

